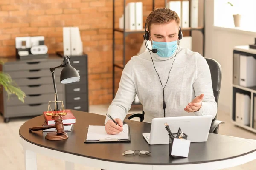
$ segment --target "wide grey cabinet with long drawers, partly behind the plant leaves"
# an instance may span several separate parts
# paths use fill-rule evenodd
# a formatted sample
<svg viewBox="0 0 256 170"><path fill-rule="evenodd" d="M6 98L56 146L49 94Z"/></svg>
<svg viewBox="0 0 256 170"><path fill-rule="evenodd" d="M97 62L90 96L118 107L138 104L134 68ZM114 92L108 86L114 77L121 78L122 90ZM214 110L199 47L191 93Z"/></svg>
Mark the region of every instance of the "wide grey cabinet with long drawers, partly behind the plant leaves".
<svg viewBox="0 0 256 170"><path fill-rule="evenodd" d="M47 59L19 60L9 58L1 65L1 70L12 77L17 85L25 92L24 103L12 94L8 99L6 91L1 88L0 111L5 122L9 118L41 115L47 111L48 102L54 101L54 87L50 67L56 67L63 63L63 59L57 55L49 55ZM61 68L55 70L55 80L58 92L58 100L65 105L65 85L60 82ZM54 105L51 105L54 109Z"/></svg>

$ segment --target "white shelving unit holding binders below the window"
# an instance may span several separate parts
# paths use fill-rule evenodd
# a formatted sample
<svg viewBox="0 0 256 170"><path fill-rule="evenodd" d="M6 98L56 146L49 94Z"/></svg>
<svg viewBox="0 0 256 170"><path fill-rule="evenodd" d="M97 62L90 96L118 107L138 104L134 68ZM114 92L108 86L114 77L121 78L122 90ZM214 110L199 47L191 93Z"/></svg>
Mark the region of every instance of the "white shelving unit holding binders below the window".
<svg viewBox="0 0 256 170"><path fill-rule="evenodd" d="M251 55L256 58L256 50L250 49L249 45L235 46L233 48L233 54ZM243 125L239 122L236 122L236 92L247 94L250 96L250 124L249 125ZM243 87L241 85L236 85L232 83L231 122L236 126L242 127L244 129L247 129L256 133L256 114L254 113L256 112L254 111L256 109L254 108L254 105L255 105L254 103L256 102L256 100L254 100L254 97L256 97L256 86Z"/></svg>

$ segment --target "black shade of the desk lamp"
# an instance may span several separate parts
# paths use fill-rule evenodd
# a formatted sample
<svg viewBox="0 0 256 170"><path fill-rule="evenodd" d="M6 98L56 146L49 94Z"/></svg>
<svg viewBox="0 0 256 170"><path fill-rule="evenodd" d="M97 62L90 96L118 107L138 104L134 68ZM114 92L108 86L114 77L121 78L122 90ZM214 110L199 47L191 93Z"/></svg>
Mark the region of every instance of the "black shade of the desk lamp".
<svg viewBox="0 0 256 170"><path fill-rule="evenodd" d="M76 82L80 79L80 76L75 68L71 65L65 66L61 71L61 83L67 84Z"/></svg>

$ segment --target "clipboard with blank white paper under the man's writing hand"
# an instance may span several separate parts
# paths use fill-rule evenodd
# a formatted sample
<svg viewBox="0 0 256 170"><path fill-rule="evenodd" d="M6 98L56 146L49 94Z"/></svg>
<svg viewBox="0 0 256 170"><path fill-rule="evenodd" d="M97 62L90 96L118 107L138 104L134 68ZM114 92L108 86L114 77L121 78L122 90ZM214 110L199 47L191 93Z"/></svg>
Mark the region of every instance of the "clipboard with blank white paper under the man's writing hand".
<svg viewBox="0 0 256 170"><path fill-rule="evenodd" d="M127 124L123 125L125 132L120 132L116 135L109 135L105 131L105 126L90 125L87 127L87 134L84 143L95 142L131 142L130 129Z"/></svg>

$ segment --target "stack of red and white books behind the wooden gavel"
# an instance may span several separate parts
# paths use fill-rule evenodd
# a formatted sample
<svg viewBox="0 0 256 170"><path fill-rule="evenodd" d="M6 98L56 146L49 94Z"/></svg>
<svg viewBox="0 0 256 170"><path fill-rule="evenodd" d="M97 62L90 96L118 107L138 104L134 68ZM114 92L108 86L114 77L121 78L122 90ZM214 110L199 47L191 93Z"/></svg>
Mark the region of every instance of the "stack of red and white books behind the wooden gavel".
<svg viewBox="0 0 256 170"><path fill-rule="evenodd" d="M55 111L52 111L52 112L55 113ZM60 111L57 111L57 113L59 112ZM65 109L65 112L67 113L67 115L61 116L63 119L62 122L64 126L64 131L71 131L73 128L73 125L76 123L76 118L70 110ZM46 115L47 111L44 111L43 113L44 113L44 119L45 119L43 126L55 125L55 122L52 119L52 116ZM49 111L48 113L51 113L51 111ZM43 131L56 131L56 129L50 128Z"/></svg>

